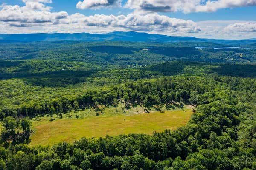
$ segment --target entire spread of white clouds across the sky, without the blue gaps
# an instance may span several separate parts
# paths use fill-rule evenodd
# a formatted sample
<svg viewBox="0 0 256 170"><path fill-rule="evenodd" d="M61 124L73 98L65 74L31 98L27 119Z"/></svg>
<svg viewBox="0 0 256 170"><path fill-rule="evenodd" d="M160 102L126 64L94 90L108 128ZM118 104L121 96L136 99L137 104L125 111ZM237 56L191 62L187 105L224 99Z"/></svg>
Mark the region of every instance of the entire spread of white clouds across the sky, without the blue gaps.
<svg viewBox="0 0 256 170"><path fill-rule="evenodd" d="M111 31L143 31L171 36L245 39L256 37L255 21L182 20L157 12L215 11L220 8L253 6L256 0L128 0L125 8L134 9L126 15L68 14L52 12L52 0L22 0L24 5L0 5L0 33L106 33ZM80 1L84 9L112 8L120 0ZM74 4L75 6L76 4ZM78 3L79 5L79 3ZM119 7L120 8L120 7ZM245 34L246 32L246 34Z"/></svg>

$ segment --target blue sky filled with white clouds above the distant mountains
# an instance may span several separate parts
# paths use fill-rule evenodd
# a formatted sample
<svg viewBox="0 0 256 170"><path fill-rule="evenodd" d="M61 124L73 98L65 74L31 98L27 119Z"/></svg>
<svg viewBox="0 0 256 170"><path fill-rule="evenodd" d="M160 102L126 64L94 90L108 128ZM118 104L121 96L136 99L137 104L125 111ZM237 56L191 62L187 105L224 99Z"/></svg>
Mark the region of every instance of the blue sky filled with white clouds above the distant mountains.
<svg viewBox="0 0 256 170"><path fill-rule="evenodd" d="M256 0L0 0L0 34L113 31L256 38Z"/></svg>

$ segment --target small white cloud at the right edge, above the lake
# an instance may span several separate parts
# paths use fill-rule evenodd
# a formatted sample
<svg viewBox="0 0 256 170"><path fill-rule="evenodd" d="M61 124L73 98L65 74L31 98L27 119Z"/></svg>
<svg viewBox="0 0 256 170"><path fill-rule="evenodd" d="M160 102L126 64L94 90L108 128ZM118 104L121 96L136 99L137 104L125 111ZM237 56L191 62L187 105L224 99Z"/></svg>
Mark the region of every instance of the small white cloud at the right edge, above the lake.
<svg viewBox="0 0 256 170"><path fill-rule="evenodd" d="M224 28L224 31L256 32L256 23L251 23L251 22L234 23Z"/></svg>

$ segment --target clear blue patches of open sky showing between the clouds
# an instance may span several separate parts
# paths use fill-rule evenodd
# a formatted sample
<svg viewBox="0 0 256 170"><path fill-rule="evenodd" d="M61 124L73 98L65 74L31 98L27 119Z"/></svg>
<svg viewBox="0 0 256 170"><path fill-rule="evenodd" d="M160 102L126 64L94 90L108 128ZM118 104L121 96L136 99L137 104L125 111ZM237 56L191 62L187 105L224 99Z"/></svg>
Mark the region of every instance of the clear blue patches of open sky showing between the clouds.
<svg viewBox="0 0 256 170"><path fill-rule="evenodd" d="M94 15L94 14L114 14L117 15L120 12L122 14L129 14L132 12L130 9L121 9L121 8L111 8L111 9L87 9L81 10L76 8L76 3L79 0L53 0L51 5L52 11L67 11L69 14L81 13L84 15ZM127 0L122 2L123 5ZM0 4L9 4L9 5L19 5L23 6L24 3L21 0L0 0ZM170 13L161 13L169 17L180 18L184 20L193 20L193 21L204 21L204 20L255 20L256 21L256 6L249 7L239 7L239 8L225 8L213 13L191 13L184 14L182 12L170 12Z"/></svg>

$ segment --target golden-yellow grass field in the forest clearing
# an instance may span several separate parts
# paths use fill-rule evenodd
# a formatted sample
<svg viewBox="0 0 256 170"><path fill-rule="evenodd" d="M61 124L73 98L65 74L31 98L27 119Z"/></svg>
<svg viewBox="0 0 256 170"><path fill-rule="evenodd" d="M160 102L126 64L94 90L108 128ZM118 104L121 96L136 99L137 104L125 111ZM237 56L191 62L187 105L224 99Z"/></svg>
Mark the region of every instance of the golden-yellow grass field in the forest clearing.
<svg viewBox="0 0 256 170"><path fill-rule="evenodd" d="M128 133L151 134L154 131L177 129L186 125L192 115L190 109L165 113L140 113L86 116L80 119L58 119L53 122L33 121L35 134L30 146L52 145L56 142L73 142L81 137L116 136Z"/></svg>

